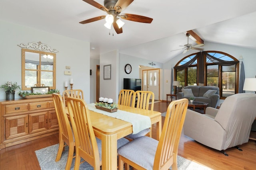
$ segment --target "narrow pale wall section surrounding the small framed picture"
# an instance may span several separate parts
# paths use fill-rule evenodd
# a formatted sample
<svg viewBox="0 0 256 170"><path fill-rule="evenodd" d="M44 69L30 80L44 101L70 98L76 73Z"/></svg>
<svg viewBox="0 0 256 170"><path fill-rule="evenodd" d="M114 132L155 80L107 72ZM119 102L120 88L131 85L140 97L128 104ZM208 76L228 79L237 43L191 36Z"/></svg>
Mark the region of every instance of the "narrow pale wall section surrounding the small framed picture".
<svg viewBox="0 0 256 170"><path fill-rule="evenodd" d="M112 98L118 102L119 51L100 55L100 97ZM104 65L111 64L111 80L104 80Z"/></svg>

